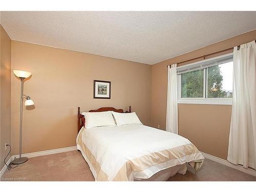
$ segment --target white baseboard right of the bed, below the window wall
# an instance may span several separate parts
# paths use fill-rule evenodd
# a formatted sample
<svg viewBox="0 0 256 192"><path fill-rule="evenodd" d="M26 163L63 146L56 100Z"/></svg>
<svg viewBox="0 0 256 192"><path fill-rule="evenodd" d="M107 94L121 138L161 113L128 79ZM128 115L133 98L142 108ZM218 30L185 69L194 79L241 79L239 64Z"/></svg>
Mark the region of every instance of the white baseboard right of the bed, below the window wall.
<svg viewBox="0 0 256 192"><path fill-rule="evenodd" d="M209 155L207 153L204 153L204 152L201 152L203 154L203 156L206 158L206 159L210 159L212 161L216 161L220 164L223 164L223 165L226 165L226 166L229 166L231 168L234 168L234 169L237 169L237 170L240 170L241 172L244 172L246 174L249 174L249 175L252 175L254 177L256 177L256 170L253 170L251 168L244 168L242 165L235 165L233 163L230 163L229 161L227 160L224 160L224 159L221 159L219 157L215 157L213 155Z"/></svg>

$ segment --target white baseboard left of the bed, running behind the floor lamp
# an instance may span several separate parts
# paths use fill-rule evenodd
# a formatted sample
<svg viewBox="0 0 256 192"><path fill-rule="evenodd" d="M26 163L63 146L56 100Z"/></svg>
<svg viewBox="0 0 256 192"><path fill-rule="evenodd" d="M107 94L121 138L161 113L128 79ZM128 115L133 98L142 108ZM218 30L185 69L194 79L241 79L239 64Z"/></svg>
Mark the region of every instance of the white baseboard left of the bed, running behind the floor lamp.
<svg viewBox="0 0 256 192"><path fill-rule="evenodd" d="M64 147L64 148L56 148L55 150L46 150L46 151L40 151L40 152L33 152L33 153L26 153L26 154L22 154L23 157L38 157L38 156L42 156L42 155L51 155L51 154L56 154L56 153L63 153L63 152L70 152L70 151L75 151L77 150L76 146L69 146L69 147ZM10 164L10 162L16 157L18 157L19 155L13 155L10 157L10 159L7 161L6 164ZM2 178L2 176L4 175L5 171L7 169L7 166L5 165L1 172L0 172L0 178Z"/></svg>

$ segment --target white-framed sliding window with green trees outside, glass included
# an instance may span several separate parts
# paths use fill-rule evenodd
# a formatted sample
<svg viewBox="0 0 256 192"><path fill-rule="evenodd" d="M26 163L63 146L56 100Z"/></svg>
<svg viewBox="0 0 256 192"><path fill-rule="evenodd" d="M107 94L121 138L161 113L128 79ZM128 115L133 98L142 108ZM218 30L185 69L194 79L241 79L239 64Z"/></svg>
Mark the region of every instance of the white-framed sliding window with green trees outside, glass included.
<svg viewBox="0 0 256 192"><path fill-rule="evenodd" d="M232 54L177 68L178 103L232 104Z"/></svg>

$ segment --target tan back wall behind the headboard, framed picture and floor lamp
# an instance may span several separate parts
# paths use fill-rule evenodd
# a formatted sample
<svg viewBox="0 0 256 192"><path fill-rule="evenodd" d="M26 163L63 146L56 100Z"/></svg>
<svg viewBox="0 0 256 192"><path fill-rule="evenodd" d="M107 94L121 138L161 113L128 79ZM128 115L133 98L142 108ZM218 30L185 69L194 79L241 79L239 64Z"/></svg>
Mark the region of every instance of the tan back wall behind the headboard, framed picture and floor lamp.
<svg viewBox="0 0 256 192"><path fill-rule="evenodd" d="M24 94L23 153L76 145L77 106L136 111L151 124L151 66L132 61L12 41L12 70L32 72ZM111 99L93 99L93 80L111 81ZM12 74L12 145L18 153L20 81Z"/></svg>

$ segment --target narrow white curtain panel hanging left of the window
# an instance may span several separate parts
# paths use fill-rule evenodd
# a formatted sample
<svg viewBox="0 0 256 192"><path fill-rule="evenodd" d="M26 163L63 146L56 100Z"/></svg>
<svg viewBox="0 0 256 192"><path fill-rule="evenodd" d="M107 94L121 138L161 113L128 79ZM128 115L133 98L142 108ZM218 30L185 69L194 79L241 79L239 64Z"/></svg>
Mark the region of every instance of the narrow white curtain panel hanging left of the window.
<svg viewBox="0 0 256 192"><path fill-rule="evenodd" d="M168 66L166 131L178 134L177 64Z"/></svg>

